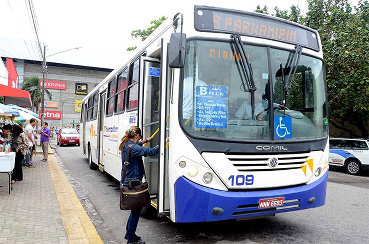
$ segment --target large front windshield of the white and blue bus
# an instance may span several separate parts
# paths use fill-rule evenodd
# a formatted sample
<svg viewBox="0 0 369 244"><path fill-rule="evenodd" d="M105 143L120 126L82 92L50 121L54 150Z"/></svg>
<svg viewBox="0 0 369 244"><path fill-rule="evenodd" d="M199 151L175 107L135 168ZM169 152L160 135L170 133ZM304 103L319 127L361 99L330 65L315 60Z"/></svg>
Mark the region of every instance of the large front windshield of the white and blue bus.
<svg viewBox="0 0 369 244"><path fill-rule="evenodd" d="M326 137L328 104L323 62L301 55L286 90L284 83L294 68L289 60L296 55L295 50L243 46L251 75L242 68L241 55L232 41L187 42L180 108L187 133L230 140ZM256 86L254 98L247 79L253 79Z"/></svg>

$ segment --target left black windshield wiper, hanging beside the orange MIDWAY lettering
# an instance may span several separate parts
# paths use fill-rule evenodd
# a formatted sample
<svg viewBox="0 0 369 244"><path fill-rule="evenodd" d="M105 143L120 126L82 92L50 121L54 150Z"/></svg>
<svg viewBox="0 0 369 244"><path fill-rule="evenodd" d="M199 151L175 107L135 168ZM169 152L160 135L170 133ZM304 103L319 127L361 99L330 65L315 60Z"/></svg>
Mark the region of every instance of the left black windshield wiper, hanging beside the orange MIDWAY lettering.
<svg viewBox="0 0 369 244"><path fill-rule="evenodd" d="M244 49L244 45L242 43L241 40L241 36L239 36L238 34L232 34L231 35L232 40L235 43L235 46L238 50L238 53L241 55L241 67L243 70L243 73L245 75L245 80L246 80L246 84L247 84L247 88L248 88L248 92L251 94L251 118L254 118L254 114L255 114L255 91L256 91L256 85L255 85L255 81L254 81L254 73L252 73L252 67L251 67L251 63L249 63L249 60L247 58L245 49ZM244 91L246 91L246 86L244 81L241 79L242 81L242 86L244 87Z"/></svg>

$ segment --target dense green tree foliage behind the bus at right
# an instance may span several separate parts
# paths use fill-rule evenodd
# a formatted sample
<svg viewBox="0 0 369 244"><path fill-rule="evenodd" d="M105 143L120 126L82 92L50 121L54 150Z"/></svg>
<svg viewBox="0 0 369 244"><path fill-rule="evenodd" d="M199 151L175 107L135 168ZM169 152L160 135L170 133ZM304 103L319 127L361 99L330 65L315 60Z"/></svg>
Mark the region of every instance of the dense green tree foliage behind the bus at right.
<svg viewBox="0 0 369 244"><path fill-rule="evenodd" d="M260 10L260 8L258 8ZM369 3L352 8L348 0L308 0L306 16L292 5L272 15L316 29L323 44L330 122L352 136L368 137ZM345 128L355 125L362 133Z"/></svg>

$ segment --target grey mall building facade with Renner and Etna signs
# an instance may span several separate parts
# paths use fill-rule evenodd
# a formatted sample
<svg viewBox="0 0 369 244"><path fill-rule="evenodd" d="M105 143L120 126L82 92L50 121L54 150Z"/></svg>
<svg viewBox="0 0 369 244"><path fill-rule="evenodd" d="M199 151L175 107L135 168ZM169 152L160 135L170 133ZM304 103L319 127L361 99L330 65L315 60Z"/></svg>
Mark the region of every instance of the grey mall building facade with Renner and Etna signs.
<svg viewBox="0 0 369 244"><path fill-rule="evenodd" d="M6 63L6 60L4 60ZM13 59L19 75L19 84L27 77L39 77L42 85L42 63L34 60ZM99 84L113 69L47 63L48 74L45 89L44 121L50 127L76 127L79 124L83 97ZM41 105L41 104L39 104ZM41 107L39 114L41 115ZM41 118L41 116L40 116Z"/></svg>

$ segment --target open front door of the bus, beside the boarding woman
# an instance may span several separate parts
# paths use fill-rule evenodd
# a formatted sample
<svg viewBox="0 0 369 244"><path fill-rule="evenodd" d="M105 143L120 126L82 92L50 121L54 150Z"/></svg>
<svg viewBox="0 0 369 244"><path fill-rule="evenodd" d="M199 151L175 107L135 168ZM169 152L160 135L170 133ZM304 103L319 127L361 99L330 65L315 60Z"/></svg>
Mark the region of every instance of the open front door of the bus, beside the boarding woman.
<svg viewBox="0 0 369 244"><path fill-rule="evenodd" d="M162 43L163 44L163 43ZM163 45L162 45L163 46ZM166 48L166 44L165 44ZM163 50L162 50L163 53ZM166 51L165 51L166 53ZM163 57L163 56L162 56ZM142 94L142 107L139 112L139 126L142 128L144 138L152 136L153 139L146 147L159 144L159 154L154 157L144 157L151 204L158 210L158 216L169 215L169 177L168 153L166 153L165 138L168 137L167 128L169 120L166 118L166 58L164 70L159 59L141 57L140 60L140 93ZM154 135L154 136L153 136ZM168 148L168 146L167 146Z"/></svg>

